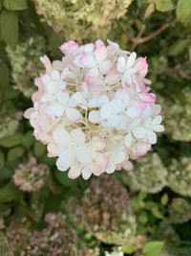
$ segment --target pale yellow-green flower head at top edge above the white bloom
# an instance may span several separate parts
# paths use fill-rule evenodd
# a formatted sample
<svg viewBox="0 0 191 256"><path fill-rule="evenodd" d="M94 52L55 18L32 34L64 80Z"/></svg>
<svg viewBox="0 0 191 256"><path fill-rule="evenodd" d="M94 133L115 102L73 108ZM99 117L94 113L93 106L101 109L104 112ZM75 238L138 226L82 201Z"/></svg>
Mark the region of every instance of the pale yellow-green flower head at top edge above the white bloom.
<svg viewBox="0 0 191 256"><path fill-rule="evenodd" d="M36 12L65 38L106 36L111 22L124 15L132 0L35 0ZM64 24L64 26L63 26ZM75 29L74 29L75 28Z"/></svg>

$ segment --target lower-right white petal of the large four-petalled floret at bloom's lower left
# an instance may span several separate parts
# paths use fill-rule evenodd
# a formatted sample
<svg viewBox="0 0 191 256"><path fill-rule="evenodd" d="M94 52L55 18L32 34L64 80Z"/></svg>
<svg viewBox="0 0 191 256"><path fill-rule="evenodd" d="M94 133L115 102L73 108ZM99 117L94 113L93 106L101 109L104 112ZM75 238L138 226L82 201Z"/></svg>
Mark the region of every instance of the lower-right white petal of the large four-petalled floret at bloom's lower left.
<svg viewBox="0 0 191 256"><path fill-rule="evenodd" d="M87 165L92 162L92 153L86 146L79 146L75 150L76 158L82 165Z"/></svg>

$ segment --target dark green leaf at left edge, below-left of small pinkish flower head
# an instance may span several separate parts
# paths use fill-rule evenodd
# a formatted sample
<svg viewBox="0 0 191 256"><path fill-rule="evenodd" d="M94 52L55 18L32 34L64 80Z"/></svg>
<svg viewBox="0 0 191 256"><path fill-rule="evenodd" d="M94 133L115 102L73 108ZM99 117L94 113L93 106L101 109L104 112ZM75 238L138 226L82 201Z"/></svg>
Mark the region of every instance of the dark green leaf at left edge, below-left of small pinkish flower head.
<svg viewBox="0 0 191 256"><path fill-rule="evenodd" d="M15 198L19 198L22 193L17 188L9 183L2 189L0 189L0 202L11 201Z"/></svg>

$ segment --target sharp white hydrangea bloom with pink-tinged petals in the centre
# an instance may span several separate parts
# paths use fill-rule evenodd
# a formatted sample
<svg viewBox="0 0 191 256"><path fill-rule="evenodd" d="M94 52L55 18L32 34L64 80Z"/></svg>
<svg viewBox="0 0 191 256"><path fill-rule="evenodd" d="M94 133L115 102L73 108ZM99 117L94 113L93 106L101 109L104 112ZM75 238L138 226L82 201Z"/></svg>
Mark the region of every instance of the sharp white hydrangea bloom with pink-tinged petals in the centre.
<svg viewBox="0 0 191 256"><path fill-rule="evenodd" d="M146 58L108 43L70 40L60 47L62 60L41 58L46 72L35 79L38 91L25 112L35 138L70 178L132 169L129 159L150 151L164 129Z"/></svg>

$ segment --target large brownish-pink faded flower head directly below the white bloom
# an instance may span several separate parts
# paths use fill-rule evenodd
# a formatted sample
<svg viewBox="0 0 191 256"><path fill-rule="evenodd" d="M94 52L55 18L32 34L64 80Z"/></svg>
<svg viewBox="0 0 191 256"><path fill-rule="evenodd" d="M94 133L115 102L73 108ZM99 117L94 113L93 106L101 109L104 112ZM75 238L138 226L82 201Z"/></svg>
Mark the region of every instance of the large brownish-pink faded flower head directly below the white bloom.
<svg viewBox="0 0 191 256"><path fill-rule="evenodd" d="M80 201L71 198L67 211L74 223L106 244L131 244L137 228L130 198L116 178L102 175L92 181Z"/></svg>

